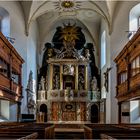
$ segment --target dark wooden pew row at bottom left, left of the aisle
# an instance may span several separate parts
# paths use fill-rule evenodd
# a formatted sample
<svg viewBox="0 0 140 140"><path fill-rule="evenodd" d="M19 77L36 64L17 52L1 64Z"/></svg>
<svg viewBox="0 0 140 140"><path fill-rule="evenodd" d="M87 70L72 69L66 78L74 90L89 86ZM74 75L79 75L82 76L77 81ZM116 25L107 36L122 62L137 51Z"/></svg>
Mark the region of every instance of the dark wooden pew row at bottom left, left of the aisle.
<svg viewBox="0 0 140 140"><path fill-rule="evenodd" d="M1 125L2 126L2 125ZM33 139L48 139L53 138L54 136L54 125L53 124L42 124L42 123L19 123L16 125L10 126L5 125L0 127L0 139L8 139L8 138L24 138L24 137L34 137Z"/></svg>

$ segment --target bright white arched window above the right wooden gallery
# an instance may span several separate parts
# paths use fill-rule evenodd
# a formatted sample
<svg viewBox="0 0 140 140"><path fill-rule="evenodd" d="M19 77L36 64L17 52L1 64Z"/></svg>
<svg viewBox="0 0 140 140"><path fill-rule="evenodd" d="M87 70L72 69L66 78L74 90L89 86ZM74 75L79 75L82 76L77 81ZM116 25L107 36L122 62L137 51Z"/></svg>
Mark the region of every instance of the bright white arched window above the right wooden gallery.
<svg viewBox="0 0 140 140"><path fill-rule="evenodd" d="M129 34L128 38L131 39L140 27L140 4L134 6L129 13Z"/></svg>

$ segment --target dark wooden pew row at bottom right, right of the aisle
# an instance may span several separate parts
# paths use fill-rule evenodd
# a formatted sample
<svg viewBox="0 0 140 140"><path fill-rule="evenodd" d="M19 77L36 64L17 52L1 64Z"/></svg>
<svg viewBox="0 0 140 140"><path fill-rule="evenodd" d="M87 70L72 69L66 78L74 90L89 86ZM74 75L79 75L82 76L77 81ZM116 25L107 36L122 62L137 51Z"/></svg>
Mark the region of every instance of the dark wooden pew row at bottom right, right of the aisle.
<svg viewBox="0 0 140 140"><path fill-rule="evenodd" d="M140 139L140 129L117 124L85 124L85 139Z"/></svg>

